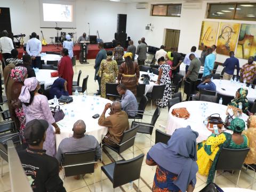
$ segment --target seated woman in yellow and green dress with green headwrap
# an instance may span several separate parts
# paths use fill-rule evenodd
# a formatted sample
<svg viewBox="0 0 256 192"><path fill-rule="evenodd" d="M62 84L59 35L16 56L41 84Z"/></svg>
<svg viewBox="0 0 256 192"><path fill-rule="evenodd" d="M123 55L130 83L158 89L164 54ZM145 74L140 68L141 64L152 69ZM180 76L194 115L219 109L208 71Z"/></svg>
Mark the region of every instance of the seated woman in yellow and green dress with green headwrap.
<svg viewBox="0 0 256 192"><path fill-rule="evenodd" d="M206 141L198 144L198 172L201 175L208 175L207 183L213 182L215 166L223 147L244 149L248 146L248 138L246 135L241 135L244 128L245 123L243 119L235 118L231 121L230 126L228 126L228 129L233 131L233 134L221 132L219 129L220 134L211 134Z"/></svg>

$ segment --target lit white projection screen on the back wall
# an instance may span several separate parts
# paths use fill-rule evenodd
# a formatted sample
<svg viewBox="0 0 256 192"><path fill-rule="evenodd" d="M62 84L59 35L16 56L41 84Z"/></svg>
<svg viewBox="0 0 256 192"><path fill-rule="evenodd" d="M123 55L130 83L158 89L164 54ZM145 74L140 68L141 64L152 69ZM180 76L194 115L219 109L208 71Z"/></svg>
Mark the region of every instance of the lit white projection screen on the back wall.
<svg viewBox="0 0 256 192"><path fill-rule="evenodd" d="M43 3L44 21L72 22L73 6Z"/></svg>

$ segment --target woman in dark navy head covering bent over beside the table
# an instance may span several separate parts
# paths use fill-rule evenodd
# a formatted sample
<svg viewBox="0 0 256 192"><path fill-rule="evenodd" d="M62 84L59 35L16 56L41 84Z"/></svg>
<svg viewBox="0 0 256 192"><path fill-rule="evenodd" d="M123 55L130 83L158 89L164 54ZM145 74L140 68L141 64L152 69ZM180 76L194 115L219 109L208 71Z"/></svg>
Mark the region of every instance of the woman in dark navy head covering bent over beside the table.
<svg viewBox="0 0 256 192"><path fill-rule="evenodd" d="M49 92L49 99L53 99L54 95L59 99L61 95L68 96L67 81L59 77L54 82Z"/></svg>

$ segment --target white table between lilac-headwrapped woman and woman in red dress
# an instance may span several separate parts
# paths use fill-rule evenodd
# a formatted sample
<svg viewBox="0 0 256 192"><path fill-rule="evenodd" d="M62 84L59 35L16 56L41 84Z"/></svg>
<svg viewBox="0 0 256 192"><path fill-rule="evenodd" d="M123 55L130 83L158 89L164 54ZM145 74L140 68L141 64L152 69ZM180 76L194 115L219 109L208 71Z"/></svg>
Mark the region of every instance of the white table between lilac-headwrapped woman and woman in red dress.
<svg viewBox="0 0 256 192"><path fill-rule="evenodd" d="M44 84L44 89L51 86L53 82L58 78L58 77L51 77L51 73L54 71L55 70L51 70L51 69L39 69L39 71L36 72L36 78L40 84Z"/></svg>

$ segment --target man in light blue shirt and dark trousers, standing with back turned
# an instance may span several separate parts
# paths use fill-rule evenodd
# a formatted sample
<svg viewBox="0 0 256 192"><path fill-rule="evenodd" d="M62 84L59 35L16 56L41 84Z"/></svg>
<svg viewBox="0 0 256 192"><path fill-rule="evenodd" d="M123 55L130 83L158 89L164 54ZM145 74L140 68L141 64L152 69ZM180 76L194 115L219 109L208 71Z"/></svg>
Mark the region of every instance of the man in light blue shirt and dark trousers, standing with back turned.
<svg viewBox="0 0 256 192"><path fill-rule="evenodd" d="M42 51L42 43L39 39L36 38L36 33L33 32L31 34L31 39L27 42L26 51L31 56L32 59L32 67L40 68L41 66L41 51Z"/></svg>

